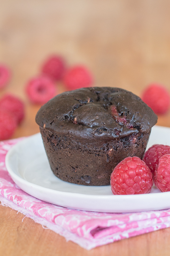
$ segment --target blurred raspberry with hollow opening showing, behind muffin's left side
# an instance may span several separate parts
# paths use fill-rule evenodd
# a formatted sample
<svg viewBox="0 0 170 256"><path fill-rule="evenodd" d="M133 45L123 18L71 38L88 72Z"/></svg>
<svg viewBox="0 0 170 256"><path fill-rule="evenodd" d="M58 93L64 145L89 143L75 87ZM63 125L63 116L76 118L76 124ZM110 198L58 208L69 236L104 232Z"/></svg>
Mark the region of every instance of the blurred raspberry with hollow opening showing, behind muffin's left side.
<svg viewBox="0 0 170 256"><path fill-rule="evenodd" d="M37 77L28 82L26 92L33 103L44 104L55 95L55 84L49 77Z"/></svg>

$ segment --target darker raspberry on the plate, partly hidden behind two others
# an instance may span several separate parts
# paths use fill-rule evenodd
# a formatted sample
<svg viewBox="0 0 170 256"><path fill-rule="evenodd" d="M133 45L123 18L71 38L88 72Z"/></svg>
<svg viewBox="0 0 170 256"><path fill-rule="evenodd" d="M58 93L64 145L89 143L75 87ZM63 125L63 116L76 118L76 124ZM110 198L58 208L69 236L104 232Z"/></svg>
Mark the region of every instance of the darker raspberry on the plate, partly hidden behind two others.
<svg viewBox="0 0 170 256"><path fill-rule="evenodd" d="M170 154L170 146L155 144L145 152L142 160L149 167L152 174L154 174L154 171L158 166L159 158L165 154Z"/></svg>

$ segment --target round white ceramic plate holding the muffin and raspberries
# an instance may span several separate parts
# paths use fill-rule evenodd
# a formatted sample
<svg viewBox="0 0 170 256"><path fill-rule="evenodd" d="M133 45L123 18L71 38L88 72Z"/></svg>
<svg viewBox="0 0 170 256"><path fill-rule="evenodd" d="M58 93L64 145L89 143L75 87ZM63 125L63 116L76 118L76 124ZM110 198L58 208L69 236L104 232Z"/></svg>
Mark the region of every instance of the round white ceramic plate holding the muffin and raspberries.
<svg viewBox="0 0 170 256"><path fill-rule="evenodd" d="M148 147L170 145L170 128L154 126ZM113 195L110 186L83 186L58 179L51 171L40 133L17 143L6 155L6 167L22 190L56 205L99 212L139 212L170 208L170 192L155 186L150 194Z"/></svg>

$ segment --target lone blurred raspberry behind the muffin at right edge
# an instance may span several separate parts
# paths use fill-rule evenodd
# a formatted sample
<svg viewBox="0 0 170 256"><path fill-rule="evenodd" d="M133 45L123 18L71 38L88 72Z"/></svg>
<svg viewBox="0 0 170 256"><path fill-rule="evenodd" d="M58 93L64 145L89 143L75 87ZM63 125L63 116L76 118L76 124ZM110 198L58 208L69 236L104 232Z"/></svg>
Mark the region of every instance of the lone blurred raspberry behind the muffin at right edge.
<svg viewBox="0 0 170 256"><path fill-rule="evenodd" d="M165 114L169 109L169 92L162 85L149 85L143 92L142 100L155 112L155 114Z"/></svg>

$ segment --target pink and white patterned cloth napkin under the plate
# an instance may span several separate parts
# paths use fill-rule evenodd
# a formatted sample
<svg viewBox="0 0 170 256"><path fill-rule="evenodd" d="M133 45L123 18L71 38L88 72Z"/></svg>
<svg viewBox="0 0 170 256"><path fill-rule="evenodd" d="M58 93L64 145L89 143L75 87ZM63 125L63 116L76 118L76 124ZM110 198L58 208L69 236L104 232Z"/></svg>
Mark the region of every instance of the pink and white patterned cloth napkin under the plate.
<svg viewBox="0 0 170 256"><path fill-rule="evenodd" d="M90 250L96 246L170 227L170 209L138 213L72 210L41 201L22 191L5 167L7 151L23 138L0 142L0 201Z"/></svg>

